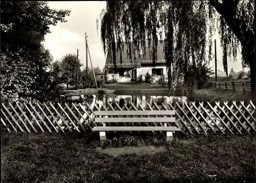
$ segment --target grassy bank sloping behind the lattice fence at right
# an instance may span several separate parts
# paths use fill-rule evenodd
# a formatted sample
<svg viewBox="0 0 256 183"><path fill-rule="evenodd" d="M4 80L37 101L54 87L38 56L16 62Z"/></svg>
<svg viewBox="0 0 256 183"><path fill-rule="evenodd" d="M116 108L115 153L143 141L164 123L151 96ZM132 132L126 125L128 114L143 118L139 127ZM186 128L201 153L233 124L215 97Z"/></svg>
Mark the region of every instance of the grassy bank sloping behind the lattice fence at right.
<svg viewBox="0 0 256 183"><path fill-rule="evenodd" d="M223 103L227 101L231 103L232 101L244 101L245 103L251 100L250 92L233 92L232 90L225 90L220 88L208 88L208 89L198 89L195 94L188 97L190 101L196 102L209 102L210 104L215 104L215 102Z"/></svg>

